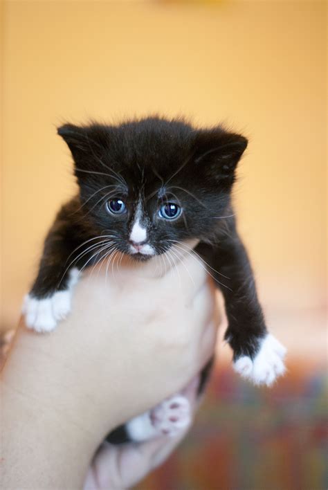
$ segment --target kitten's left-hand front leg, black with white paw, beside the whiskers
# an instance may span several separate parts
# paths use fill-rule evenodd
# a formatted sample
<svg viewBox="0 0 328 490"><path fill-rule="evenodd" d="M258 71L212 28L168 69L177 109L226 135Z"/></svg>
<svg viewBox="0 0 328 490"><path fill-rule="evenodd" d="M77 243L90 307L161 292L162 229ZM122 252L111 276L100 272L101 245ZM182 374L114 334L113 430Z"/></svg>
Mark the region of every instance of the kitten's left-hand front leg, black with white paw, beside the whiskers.
<svg viewBox="0 0 328 490"><path fill-rule="evenodd" d="M26 326L36 332L51 332L71 311L71 295L79 270L70 257L79 242L64 211L46 237L37 278L24 298ZM71 264L70 264L71 260Z"/></svg>

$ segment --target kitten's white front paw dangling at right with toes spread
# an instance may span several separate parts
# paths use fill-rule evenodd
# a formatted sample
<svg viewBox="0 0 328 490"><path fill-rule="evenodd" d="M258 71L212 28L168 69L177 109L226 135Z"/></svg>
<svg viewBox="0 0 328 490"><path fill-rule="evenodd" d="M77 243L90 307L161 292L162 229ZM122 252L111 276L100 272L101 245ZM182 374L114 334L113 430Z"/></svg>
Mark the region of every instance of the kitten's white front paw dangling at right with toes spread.
<svg viewBox="0 0 328 490"><path fill-rule="evenodd" d="M277 339L268 334L261 342L255 358L242 356L234 363L235 371L256 385L272 385L286 371L284 356L286 348Z"/></svg>

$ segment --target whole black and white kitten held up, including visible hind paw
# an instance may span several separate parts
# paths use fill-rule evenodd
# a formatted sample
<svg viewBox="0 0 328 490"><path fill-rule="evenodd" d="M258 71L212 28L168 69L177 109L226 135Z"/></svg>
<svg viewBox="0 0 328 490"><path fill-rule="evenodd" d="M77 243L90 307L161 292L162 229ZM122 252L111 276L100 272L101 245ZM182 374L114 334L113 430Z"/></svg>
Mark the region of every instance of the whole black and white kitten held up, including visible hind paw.
<svg viewBox="0 0 328 490"><path fill-rule="evenodd" d="M285 349L266 329L230 199L246 138L221 126L196 129L158 117L116 126L66 124L58 134L73 155L80 192L46 237L24 301L26 325L53 330L69 314L80 271L110 253L152 260L172 247L187 250L194 240L192 253L224 295L235 370L271 385L284 373ZM188 403L177 395L131 421L129 438L174 433L189 419Z"/></svg>

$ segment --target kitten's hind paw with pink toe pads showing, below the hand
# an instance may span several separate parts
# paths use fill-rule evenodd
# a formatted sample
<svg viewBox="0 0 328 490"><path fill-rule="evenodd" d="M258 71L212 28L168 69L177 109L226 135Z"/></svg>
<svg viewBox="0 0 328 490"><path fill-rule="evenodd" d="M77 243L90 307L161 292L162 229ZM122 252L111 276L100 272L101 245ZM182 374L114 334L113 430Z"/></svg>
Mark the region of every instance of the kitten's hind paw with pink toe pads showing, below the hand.
<svg viewBox="0 0 328 490"><path fill-rule="evenodd" d="M158 433L174 436L191 423L189 400L178 394L150 411L152 425Z"/></svg>

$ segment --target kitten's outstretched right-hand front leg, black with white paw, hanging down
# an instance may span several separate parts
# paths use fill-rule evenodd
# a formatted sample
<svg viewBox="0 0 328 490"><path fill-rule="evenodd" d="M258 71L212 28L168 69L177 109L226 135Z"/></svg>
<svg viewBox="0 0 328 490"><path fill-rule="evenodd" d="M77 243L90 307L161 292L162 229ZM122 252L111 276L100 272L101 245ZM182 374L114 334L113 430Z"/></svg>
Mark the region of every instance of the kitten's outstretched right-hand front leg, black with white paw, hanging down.
<svg viewBox="0 0 328 490"><path fill-rule="evenodd" d="M271 385L284 374L285 347L268 333L257 299L245 248L233 228L217 246L197 248L221 289L228 317L226 341L233 349L235 370L255 384Z"/></svg>

